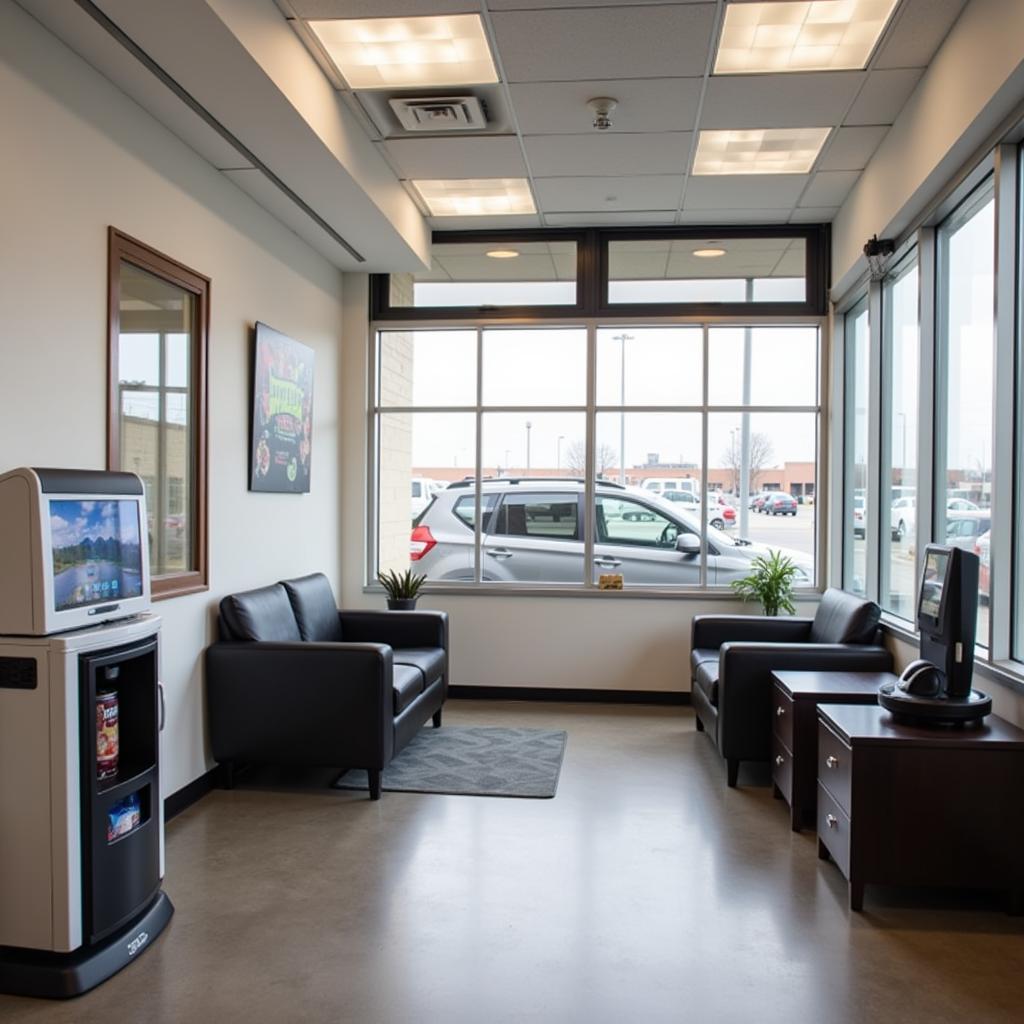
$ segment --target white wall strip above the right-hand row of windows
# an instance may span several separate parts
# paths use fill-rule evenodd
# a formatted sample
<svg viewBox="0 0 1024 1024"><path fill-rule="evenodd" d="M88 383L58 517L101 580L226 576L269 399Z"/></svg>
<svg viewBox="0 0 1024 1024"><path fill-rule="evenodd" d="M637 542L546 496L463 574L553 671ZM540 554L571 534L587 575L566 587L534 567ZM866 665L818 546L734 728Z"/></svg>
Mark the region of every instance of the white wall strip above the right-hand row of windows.
<svg viewBox="0 0 1024 1024"><path fill-rule="evenodd" d="M1024 3L971 0L833 224L833 288L866 270L864 243L895 238L1024 100Z"/></svg>

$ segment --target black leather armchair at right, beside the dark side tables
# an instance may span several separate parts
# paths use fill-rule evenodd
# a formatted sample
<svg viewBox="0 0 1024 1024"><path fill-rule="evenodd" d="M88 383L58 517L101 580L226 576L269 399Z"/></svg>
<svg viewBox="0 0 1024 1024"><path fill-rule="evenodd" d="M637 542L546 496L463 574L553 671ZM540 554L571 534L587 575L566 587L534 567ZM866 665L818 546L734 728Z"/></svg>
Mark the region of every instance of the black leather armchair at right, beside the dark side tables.
<svg viewBox="0 0 1024 1024"><path fill-rule="evenodd" d="M880 609L842 590L822 595L814 618L695 615L690 643L697 729L725 758L729 785L740 761L771 757L771 674L777 669L888 672Z"/></svg>

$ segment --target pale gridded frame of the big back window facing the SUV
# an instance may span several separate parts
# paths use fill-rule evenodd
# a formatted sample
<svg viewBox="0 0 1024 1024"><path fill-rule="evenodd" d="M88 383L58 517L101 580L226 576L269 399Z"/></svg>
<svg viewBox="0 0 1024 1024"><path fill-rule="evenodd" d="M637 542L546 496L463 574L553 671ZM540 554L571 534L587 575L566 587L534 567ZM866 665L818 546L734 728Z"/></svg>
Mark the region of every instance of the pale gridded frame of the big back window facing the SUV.
<svg viewBox="0 0 1024 1024"><path fill-rule="evenodd" d="M696 407L686 406L673 408L665 407L620 407L599 403L596 396L596 360L597 360L597 333L600 329L629 329L629 328L671 328L671 327L696 327L703 334L703 397L705 401ZM708 402L708 375L710 373L710 362L708 359L709 335L714 328L813 328L817 332L817 352L816 352L816 384L817 403L815 406L720 406ZM587 333L587 399L586 404L579 407L492 407L482 403L482 376L483 376L483 335L488 329L539 329L556 330L559 328L582 329ZM452 406L452 407L416 407L384 406L379 400L380 394L380 359L379 359L379 338L382 333L394 331L443 331L443 330L474 330L477 334L477 395L476 402L472 406ZM830 506L830 496L825 487L825 481L829 478L828 463L830 449L827 443L828 418L829 418L829 395L826 390L827 382L830 379L830 356L828 344L828 322L825 317L815 316L717 316L717 317L691 317L674 316L666 317L563 317L560 319L538 321L532 318L520 318L515 324L510 324L500 316L478 317L474 321L457 318L449 322L437 322L435 319L420 321L418 317L410 317L406 321L385 319L380 323L372 322L368 333L368 371L367 374L367 474L368 486L366 490L366 538L365 538L365 578L364 592L378 593L380 585L377 583L377 565L380 548L379 538L379 418L392 413L445 413L445 414L468 414L475 418L477 441L476 461L474 474L480 475L482 450L479 443L479 431L481 430L482 418L487 413L582 413L586 417L586 442L587 454L586 464L590 472L586 474L585 487L582 493L584 506L581 510L579 527L581 540L584 543L584 569L585 577L580 582L571 583L536 583L536 582L507 582L494 584L479 578L481 571L480 551L484 537L483 523L481 520L482 501L486 496L479 488L472 488L470 492L477 496L476 506L476 529L475 529L475 551L474 551L474 572L476 579L473 581L445 581L443 583L427 581L425 591L431 593L449 594L486 594L495 596L572 596L572 597L599 597L608 598L612 595L615 598L642 598L659 597L678 600L680 597L698 597L701 600L712 601L735 601L735 596L727 586L707 585L707 557L701 560L700 578L701 583L694 586L648 586L635 585L627 587L621 591L602 591L598 588L596 579L592 571L595 558L595 545L597 542L596 524L596 487L595 474L595 449L597 437L597 416L599 413L618 413L622 409L629 413L656 413L656 412L683 412L697 413L702 419L702 462L707 462L708 443L708 420L716 413L742 413L751 415L762 413L797 413L815 416L815 449L814 463L816 468L815 478L815 526L814 526L814 582L802 587L796 592L796 600L816 600L825 589L826 553L827 553L827 530L823 523L827 522L828 508ZM634 496L635 497L635 496ZM465 522L465 521L464 521ZM466 524L468 528L473 528ZM710 551L710 541L708 537L708 517L701 517L700 537L702 547ZM413 566L415 570L415 565Z"/></svg>

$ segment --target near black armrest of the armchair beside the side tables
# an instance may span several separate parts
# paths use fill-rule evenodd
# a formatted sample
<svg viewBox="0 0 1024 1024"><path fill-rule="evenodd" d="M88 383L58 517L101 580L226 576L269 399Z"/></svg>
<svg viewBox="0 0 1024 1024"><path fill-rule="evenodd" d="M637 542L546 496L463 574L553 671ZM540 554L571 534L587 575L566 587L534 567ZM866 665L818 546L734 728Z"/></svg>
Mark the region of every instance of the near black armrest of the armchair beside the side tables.
<svg viewBox="0 0 1024 1024"><path fill-rule="evenodd" d="M771 674L800 671L889 672L885 647L830 643L726 643L719 652L719 746L727 758L771 756Z"/></svg>

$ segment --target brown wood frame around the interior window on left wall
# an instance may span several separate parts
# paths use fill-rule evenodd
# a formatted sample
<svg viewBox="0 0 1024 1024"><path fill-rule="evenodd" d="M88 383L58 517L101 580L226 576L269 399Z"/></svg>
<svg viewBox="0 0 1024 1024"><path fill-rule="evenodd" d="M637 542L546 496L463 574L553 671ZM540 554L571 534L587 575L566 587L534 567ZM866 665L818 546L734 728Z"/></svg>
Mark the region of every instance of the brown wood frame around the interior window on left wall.
<svg viewBox="0 0 1024 1024"><path fill-rule="evenodd" d="M209 487L207 480L207 349L210 335L210 279L133 239L115 227L108 229L108 393L106 393L106 465L121 469L120 394L118 350L121 334L121 261L131 263L158 278L190 292L196 297L193 331L193 385L196 414L195 466L196 487L191 512L196 523L194 567L184 572L154 575L153 599L164 600L209 590Z"/></svg>

